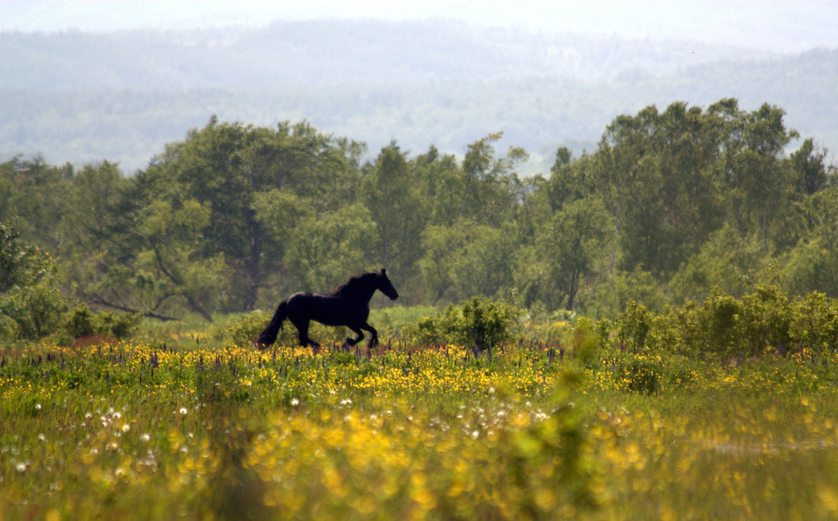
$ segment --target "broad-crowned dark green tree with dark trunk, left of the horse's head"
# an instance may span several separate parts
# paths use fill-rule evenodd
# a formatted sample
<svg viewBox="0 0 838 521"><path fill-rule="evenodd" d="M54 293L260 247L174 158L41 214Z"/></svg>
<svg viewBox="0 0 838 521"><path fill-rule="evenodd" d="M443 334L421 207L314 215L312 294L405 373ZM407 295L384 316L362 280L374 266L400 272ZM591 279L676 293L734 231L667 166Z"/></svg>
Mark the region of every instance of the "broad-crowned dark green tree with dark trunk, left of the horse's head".
<svg viewBox="0 0 838 521"><path fill-rule="evenodd" d="M276 130L220 124L213 117L185 142L169 145L157 161L138 175L147 200L178 196L209 209L199 252L223 259L229 284L226 310L251 310L270 279L271 259L284 255L277 235L266 233L257 215L256 194L285 189L314 209L334 209L357 188L362 148L333 139L307 123L281 123ZM221 302L221 301L220 301Z"/></svg>

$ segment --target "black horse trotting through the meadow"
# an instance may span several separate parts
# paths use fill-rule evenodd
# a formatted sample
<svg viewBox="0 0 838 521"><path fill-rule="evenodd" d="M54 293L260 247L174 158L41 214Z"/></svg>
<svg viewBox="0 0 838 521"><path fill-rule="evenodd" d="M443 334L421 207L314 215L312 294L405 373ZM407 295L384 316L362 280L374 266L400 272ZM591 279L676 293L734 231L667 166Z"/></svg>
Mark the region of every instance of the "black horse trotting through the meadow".
<svg viewBox="0 0 838 521"><path fill-rule="evenodd" d="M378 344L378 332L367 323L367 318L370 317L370 298L375 290L381 291L391 300L399 297L383 268L380 272L368 271L349 277L328 295L308 291L294 293L277 307L277 312L259 335L256 344L260 349L264 349L274 343L279 330L282 329L282 322L287 318L297 327L300 345L303 347L319 347L318 343L308 338L308 322L312 320L327 326L349 327L358 335L358 338L346 339L350 346L364 339L361 329L369 331L372 335L369 346L375 346Z"/></svg>

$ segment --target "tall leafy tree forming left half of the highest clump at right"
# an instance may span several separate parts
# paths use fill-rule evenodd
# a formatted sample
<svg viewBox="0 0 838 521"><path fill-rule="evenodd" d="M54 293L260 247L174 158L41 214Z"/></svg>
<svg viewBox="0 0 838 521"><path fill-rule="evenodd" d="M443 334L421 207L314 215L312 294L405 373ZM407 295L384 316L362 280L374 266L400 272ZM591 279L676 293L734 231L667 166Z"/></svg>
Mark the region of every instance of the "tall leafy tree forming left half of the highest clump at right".
<svg viewBox="0 0 838 521"><path fill-rule="evenodd" d="M609 272L619 249L623 270L665 280L721 224L714 167L724 136L711 110L683 102L608 126L587 177L616 223Z"/></svg>

